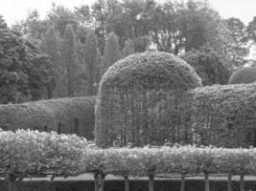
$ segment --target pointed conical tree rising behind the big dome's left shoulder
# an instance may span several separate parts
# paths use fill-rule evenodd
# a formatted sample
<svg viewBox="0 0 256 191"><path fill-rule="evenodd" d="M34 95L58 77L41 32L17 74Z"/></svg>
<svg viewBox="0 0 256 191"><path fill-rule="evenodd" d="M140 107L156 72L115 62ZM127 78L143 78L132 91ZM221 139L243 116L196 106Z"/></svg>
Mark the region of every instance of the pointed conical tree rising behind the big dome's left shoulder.
<svg viewBox="0 0 256 191"><path fill-rule="evenodd" d="M111 32L107 38L105 43L105 52L102 62L102 74L105 74L105 71L110 67L113 63L121 58L121 54L119 51L118 39L114 32Z"/></svg>

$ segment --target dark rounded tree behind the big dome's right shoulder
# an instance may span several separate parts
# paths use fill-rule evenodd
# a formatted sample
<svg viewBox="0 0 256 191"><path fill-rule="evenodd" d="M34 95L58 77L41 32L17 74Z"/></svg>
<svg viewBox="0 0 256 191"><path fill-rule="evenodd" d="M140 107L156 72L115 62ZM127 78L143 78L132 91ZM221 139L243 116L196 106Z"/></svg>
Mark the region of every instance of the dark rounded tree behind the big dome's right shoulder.
<svg viewBox="0 0 256 191"><path fill-rule="evenodd" d="M185 53L182 58L187 61L202 79L203 85L226 84L230 75L224 60L218 53L200 49Z"/></svg>

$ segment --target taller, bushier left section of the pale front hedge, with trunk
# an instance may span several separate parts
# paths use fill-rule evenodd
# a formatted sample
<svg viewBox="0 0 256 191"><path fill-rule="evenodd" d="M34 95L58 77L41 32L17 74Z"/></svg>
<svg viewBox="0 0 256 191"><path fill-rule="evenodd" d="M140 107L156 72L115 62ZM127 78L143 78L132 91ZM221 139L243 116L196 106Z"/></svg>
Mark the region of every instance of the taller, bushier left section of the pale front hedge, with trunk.
<svg viewBox="0 0 256 191"><path fill-rule="evenodd" d="M30 130L1 131L0 137L0 176L12 185L10 191L15 190L16 180L27 177L80 173L86 139Z"/></svg>

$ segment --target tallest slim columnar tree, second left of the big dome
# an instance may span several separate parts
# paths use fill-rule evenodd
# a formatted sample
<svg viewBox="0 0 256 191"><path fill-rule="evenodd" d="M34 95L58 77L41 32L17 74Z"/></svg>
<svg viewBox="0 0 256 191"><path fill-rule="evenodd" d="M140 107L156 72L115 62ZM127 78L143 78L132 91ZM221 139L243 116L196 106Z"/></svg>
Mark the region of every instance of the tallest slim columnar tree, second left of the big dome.
<svg viewBox="0 0 256 191"><path fill-rule="evenodd" d="M62 42L62 59L66 67L67 95L75 93L75 34L72 25L67 25Z"/></svg>

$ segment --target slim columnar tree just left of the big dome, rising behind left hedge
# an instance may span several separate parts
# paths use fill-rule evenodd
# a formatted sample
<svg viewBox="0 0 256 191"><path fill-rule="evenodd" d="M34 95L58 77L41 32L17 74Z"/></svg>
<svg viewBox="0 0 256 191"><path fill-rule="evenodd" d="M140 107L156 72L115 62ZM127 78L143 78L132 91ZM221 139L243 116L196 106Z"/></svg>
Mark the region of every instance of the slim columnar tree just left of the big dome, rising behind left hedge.
<svg viewBox="0 0 256 191"><path fill-rule="evenodd" d="M94 95L94 82L97 63L97 37L94 32L89 32L86 37L84 63L87 69L88 96Z"/></svg>

